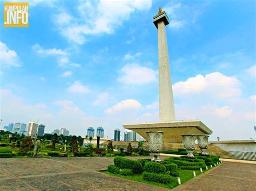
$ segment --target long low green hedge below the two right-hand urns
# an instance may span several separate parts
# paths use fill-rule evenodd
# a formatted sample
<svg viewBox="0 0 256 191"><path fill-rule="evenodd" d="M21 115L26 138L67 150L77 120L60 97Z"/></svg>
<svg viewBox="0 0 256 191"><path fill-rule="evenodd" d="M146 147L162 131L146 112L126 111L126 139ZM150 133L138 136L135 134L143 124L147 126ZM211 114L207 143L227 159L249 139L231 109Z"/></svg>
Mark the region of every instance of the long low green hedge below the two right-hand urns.
<svg viewBox="0 0 256 191"><path fill-rule="evenodd" d="M205 168L205 161L201 159L187 159L187 158L167 158L164 160L166 163L175 163L179 169L200 169Z"/></svg>

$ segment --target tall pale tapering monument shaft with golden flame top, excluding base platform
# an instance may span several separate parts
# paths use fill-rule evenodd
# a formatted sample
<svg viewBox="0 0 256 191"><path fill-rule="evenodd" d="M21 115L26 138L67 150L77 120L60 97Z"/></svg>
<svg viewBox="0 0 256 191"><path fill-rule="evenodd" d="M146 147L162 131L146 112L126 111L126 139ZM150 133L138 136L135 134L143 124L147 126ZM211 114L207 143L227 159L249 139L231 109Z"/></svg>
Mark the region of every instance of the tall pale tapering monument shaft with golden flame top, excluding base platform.
<svg viewBox="0 0 256 191"><path fill-rule="evenodd" d="M158 15L153 17L153 23L158 30L158 69L159 69L159 117L160 122L175 121L175 111L172 93L172 80L169 63L169 53L165 25L169 18L165 11L159 8Z"/></svg>

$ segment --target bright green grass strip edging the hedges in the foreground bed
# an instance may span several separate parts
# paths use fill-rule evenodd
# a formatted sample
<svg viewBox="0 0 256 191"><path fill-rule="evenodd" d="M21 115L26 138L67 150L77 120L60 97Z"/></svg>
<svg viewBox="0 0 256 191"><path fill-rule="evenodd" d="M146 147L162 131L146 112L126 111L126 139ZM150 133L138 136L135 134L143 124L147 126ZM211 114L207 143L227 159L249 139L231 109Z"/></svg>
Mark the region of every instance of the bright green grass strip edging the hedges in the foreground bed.
<svg viewBox="0 0 256 191"><path fill-rule="evenodd" d="M211 169L211 167L208 167L208 169ZM181 183L185 183L186 181L194 178L193 171L196 172L197 176L202 174L200 172L200 170L185 170L185 169L179 170ZM169 188L169 189L172 189L172 188L179 185L177 177L174 177L174 176L173 176L173 178L174 178L173 181L171 181L168 184L164 184L164 183L158 183L158 182L145 181L145 180L143 180L142 174L134 174L134 175L130 175L130 176L123 176L123 175L120 175L120 174L113 174L113 173L108 172L108 171L102 171L102 172L105 173L105 174L118 176L120 178L134 180L134 181L138 181L138 182L144 182L144 183L147 183L149 185L160 186L160 187ZM203 169L203 173L205 173L205 172L206 172L206 169Z"/></svg>

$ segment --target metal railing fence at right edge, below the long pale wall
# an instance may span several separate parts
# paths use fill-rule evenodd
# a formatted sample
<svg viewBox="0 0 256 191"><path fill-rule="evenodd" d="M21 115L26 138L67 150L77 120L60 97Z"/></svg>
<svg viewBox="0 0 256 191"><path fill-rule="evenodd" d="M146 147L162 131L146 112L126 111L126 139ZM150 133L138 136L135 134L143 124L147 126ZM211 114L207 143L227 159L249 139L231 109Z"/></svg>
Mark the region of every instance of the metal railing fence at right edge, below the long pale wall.
<svg viewBox="0 0 256 191"><path fill-rule="evenodd" d="M251 160L256 161L256 152L246 152L246 151L217 151L208 149L207 153L209 155L217 155L223 159L237 159L237 160Z"/></svg>

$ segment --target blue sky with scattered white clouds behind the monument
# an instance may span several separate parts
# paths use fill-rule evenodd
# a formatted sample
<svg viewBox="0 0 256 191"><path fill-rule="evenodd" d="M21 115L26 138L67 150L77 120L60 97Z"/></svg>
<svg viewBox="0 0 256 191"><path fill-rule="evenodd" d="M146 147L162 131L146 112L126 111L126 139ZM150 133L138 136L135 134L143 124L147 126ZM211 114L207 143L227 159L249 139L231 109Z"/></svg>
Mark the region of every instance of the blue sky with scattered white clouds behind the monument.
<svg viewBox="0 0 256 191"><path fill-rule="evenodd" d="M254 1L29 2L28 28L1 25L2 127L39 119L46 132L103 126L112 138L158 121L161 6L177 119L200 119L211 140L254 137Z"/></svg>

